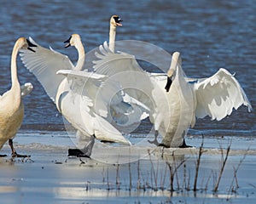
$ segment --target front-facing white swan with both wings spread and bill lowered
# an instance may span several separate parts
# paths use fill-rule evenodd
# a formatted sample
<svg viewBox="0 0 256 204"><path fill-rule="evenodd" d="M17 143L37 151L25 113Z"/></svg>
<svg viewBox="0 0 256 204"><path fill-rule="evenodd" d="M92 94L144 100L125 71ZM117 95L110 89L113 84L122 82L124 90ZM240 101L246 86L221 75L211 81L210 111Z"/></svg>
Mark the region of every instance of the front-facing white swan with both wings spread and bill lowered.
<svg viewBox="0 0 256 204"><path fill-rule="evenodd" d="M131 97L149 107L149 119L155 130L151 143L189 147L184 137L188 128L194 127L196 118L210 116L220 121L241 105L252 111L241 85L224 68L212 77L192 79L185 77L178 52L172 54L167 75L143 71L135 56L122 52L114 54L106 42L95 54L98 58L93 61L96 73L116 77L124 88L132 88L126 90ZM163 137L160 144L158 133Z"/></svg>

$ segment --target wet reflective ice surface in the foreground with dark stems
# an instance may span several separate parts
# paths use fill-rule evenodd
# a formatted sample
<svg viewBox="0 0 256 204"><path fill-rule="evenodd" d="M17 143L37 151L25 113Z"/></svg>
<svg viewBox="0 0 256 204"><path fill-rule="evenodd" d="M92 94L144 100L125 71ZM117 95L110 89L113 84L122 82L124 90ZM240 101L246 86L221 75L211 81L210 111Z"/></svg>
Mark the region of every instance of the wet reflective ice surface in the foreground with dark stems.
<svg viewBox="0 0 256 204"><path fill-rule="evenodd" d="M22 154L30 154L32 161L0 158L1 200L4 203L254 203L256 200L253 137L204 138L207 151L201 156L196 194L192 189L200 136L187 138L187 143L195 146L189 149L155 148L142 135L130 137L134 145L129 148L97 142L93 159L83 158L82 162L67 158L67 149L75 147L74 138L67 132L20 131L15 147ZM218 191L213 193L222 163L221 147L225 156L230 142L224 174ZM9 146L5 145L1 154L9 153ZM171 194L168 164L174 170L180 163ZM236 173L239 188L236 188L234 168L239 164Z"/></svg>

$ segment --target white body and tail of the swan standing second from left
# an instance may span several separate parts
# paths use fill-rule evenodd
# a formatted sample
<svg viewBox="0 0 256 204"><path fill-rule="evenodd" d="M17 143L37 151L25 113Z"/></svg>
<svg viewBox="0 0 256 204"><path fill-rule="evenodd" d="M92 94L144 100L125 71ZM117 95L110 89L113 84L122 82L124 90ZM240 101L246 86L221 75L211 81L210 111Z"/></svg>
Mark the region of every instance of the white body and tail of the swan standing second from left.
<svg viewBox="0 0 256 204"><path fill-rule="evenodd" d="M103 75L87 74L81 71L58 71L57 74L66 76L67 84L59 88L61 101L58 105L59 111L65 116L67 121L73 124L73 127L77 128L80 133L84 136L90 137L95 135L96 139L103 141L119 142L121 144L131 144L127 139L123 137L119 131L113 127L106 119L100 114L96 114L95 104L92 98L88 97L87 89L90 89L90 84L94 86L102 86L99 79L105 78ZM83 77L81 77L83 75ZM79 80L80 78L80 80ZM84 87L84 80L87 81L86 88L77 89ZM95 81L95 82L94 82ZM98 88L99 88L98 87ZM62 89L63 88L63 89ZM100 113L101 111L99 111ZM103 111L104 112L104 111Z"/></svg>

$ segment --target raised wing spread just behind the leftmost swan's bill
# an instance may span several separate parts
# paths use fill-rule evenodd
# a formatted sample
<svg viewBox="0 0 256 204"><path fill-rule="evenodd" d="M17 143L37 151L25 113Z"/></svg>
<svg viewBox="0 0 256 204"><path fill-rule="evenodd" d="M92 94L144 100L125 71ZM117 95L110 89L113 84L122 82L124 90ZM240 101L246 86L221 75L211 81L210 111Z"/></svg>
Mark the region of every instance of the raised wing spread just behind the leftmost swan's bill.
<svg viewBox="0 0 256 204"><path fill-rule="evenodd" d="M73 64L67 55L60 54L52 48L43 48L34 42L32 37L29 37L29 40L37 45L33 48L35 52L22 49L20 58L26 68L38 78L49 97L55 101L59 84L64 79L63 76L56 75L56 72L73 69Z"/></svg>

